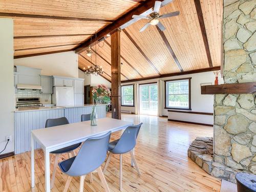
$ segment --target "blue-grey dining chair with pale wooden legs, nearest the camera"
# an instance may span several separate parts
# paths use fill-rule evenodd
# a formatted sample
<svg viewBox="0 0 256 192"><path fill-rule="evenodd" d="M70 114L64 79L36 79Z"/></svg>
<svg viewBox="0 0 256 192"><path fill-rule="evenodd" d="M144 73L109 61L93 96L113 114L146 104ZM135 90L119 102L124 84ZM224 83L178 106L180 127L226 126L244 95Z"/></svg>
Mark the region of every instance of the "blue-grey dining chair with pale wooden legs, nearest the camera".
<svg viewBox="0 0 256 192"><path fill-rule="evenodd" d="M60 170L69 176L63 192L68 191L72 177L78 176L80 177L79 192L82 192L84 178L94 170L97 170L105 191L110 191L100 166L106 158L110 134L111 132L108 132L102 136L87 139L82 144L77 156L59 163Z"/></svg>

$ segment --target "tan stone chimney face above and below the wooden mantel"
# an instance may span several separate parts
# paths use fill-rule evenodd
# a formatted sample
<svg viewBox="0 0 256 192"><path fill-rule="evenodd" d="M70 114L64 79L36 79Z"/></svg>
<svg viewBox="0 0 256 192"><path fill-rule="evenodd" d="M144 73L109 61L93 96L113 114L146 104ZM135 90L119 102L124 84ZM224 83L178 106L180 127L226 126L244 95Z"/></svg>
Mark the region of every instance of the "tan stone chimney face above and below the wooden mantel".
<svg viewBox="0 0 256 192"><path fill-rule="evenodd" d="M256 0L224 0L224 83L256 81ZM256 174L256 94L215 95L211 175Z"/></svg>

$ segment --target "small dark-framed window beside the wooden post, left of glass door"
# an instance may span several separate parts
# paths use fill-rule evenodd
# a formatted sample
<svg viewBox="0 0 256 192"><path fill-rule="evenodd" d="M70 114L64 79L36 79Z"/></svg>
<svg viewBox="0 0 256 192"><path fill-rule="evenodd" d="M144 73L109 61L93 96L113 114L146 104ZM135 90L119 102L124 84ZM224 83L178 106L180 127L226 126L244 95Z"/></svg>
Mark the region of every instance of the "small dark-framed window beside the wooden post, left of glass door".
<svg viewBox="0 0 256 192"><path fill-rule="evenodd" d="M130 84L121 88L121 105L134 106L134 85Z"/></svg>

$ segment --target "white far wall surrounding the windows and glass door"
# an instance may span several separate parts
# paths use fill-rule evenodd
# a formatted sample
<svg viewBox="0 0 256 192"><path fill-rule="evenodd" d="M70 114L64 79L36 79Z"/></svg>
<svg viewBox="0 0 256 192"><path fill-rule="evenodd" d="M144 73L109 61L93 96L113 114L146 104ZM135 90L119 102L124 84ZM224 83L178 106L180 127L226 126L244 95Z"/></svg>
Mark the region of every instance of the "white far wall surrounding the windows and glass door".
<svg viewBox="0 0 256 192"><path fill-rule="evenodd" d="M204 73L195 73L195 74L188 74L188 75L179 75L179 76L173 76L173 77L165 77L165 78L159 78L159 79L151 79L151 80L144 80L144 81L137 81L134 83L147 83L147 82L156 82L158 80L161 80L162 83L162 115L168 116L169 119L177 119L178 117L181 117L179 120L184 121L190 121L192 119L200 119L202 118L202 123L212 124L212 116L191 116L191 114L182 114L182 113L171 113L168 112L167 109L164 109L165 105L165 92L164 92L164 80L170 80L170 79L179 79L179 78L187 78L191 77L191 111L193 112L207 112L207 113L213 113L213 105L214 105L214 96L213 95L201 95L201 83L209 83L211 82L214 84L215 81L215 75L214 72L204 72ZM223 83L223 79L219 76L219 83ZM125 84L131 84L130 83L122 83L122 85ZM121 106L122 111L131 111L135 112L135 107L130 106ZM175 114L175 116L174 116Z"/></svg>

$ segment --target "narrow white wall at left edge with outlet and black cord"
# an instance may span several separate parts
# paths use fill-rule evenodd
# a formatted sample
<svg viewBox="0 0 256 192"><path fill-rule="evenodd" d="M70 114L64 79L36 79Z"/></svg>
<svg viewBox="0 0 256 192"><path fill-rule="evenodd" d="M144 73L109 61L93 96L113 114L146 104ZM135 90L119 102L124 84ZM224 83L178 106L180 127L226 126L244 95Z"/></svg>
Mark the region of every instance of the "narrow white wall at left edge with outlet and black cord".
<svg viewBox="0 0 256 192"><path fill-rule="evenodd" d="M13 19L0 18L0 151L6 145L6 136L12 141L2 153L14 151L14 80L13 80ZM1 154L1 155L2 155Z"/></svg>

